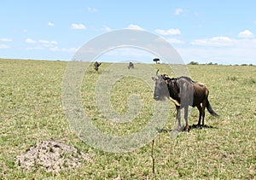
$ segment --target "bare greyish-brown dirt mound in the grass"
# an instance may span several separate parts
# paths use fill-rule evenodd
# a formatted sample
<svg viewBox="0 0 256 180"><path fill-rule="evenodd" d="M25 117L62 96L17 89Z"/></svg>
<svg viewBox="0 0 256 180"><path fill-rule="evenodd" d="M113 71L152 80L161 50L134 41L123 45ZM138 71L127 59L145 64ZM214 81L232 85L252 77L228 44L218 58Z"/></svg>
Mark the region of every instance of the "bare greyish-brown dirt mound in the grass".
<svg viewBox="0 0 256 180"><path fill-rule="evenodd" d="M77 148L57 142L54 139L38 142L17 156L17 164L26 171L44 169L44 171L62 171L77 168L83 163L92 162L88 154Z"/></svg>

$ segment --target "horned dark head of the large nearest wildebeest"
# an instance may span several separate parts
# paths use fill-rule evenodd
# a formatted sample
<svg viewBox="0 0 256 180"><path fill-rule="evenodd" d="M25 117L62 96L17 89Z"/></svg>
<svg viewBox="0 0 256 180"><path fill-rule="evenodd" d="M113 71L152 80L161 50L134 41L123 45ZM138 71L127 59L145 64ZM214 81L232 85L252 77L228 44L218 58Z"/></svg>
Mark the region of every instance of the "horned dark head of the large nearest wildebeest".
<svg viewBox="0 0 256 180"><path fill-rule="evenodd" d="M156 72L157 78L152 77L155 82L154 85L154 100L163 101L166 97L169 97L169 91L165 80L165 75L158 75L159 70Z"/></svg>

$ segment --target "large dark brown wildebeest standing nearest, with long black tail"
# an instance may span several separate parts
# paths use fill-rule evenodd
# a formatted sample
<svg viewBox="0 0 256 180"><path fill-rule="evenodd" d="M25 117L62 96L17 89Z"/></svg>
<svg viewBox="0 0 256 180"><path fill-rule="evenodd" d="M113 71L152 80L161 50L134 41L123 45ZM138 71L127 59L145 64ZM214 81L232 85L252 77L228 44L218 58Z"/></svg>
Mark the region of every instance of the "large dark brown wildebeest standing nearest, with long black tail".
<svg viewBox="0 0 256 180"><path fill-rule="evenodd" d="M189 106L197 107L199 111L199 119L197 126L204 126L205 108L213 116L218 117L218 114L212 110L210 102L208 101L209 90L205 84L193 81L189 77L169 78L166 74L158 75L158 78L152 77L155 82L154 86L154 100L163 101L169 98L176 105L177 122L181 128L180 110L184 108L184 119L186 121L185 131L189 131L188 112ZM202 125L201 125L202 119Z"/></svg>

